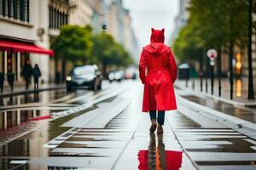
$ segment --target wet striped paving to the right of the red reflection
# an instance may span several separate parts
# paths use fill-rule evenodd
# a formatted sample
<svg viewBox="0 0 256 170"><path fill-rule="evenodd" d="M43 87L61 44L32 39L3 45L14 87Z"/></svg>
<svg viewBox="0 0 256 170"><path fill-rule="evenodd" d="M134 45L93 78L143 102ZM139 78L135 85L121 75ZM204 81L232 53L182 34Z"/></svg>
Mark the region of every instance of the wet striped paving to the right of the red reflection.
<svg viewBox="0 0 256 170"><path fill-rule="evenodd" d="M183 150L199 169L234 169L235 165L241 166L238 169L255 168L255 140L231 128L201 127L179 112L167 115L167 119Z"/></svg>

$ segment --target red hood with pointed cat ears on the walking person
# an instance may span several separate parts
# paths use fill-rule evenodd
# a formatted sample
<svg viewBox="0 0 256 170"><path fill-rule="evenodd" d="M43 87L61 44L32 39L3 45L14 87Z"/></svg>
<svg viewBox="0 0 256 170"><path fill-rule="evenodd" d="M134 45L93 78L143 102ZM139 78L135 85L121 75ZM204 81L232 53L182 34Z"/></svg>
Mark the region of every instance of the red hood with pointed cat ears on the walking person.
<svg viewBox="0 0 256 170"><path fill-rule="evenodd" d="M144 49L148 51L150 54L154 54L158 56L159 54L163 54L168 49L165 42L165 29L162 30L154 30L151 28L151 37L150 37L150 44L146 46Z"/></svg>

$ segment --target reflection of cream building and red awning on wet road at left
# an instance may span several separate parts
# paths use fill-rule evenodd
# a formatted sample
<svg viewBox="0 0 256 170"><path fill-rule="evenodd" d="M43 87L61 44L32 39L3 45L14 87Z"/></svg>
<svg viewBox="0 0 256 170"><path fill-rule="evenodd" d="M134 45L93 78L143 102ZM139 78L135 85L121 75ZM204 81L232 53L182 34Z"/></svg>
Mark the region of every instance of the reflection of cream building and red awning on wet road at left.
<svg viewBox="0 0 256 170"><path fill-rule="evenodd" d="M102 92L104 93L105 91L102 90ZM110 93L110 91L108 91L108 93ZM80 94L82 95L83 93ZM97 94L101 93L98 92ZM78 96L73 97L79 97L79 94ZM70 98L62 97L61 99L55 99L55 101L63 102L67 99ZM57 110L58 105L61 106L59 110ZM67 122L68 120L72 119L73 117L79 116L84 112L90 111L91 109L96 109L94 106L92 106L88 110L80 112L77 111L72 115L64 116L51 122L49 122L48 120L44 120L44 118L46 116L49 116L52 111L63 110L63 107L67 110L68 105L69 104L50 104L49 106L51 108L49 107L48 109L45 106L35 106L34 108L30 107L29 109L17 108L2 111L0 114L0 116L2 117L0 118L3 120L3 123L0 123L0 125L2 127L1 134L3 135L1 136L2 143L0 144L0 150L1 156L3 156L3 159L1 160L1 165L3 165L3 169L8 169L10 167L13 167L14 169L21 167L25 169L54 169L53 166L45 167L45 165L42 166L29 164L29 166L27 166L26 162L25 165L23 165L22 163L19 162L19 160L30 160L28 159L28 157L48 157L49 149L42 146L46 144L49 140L54 139L56 136L60 135L61 133L67 131L70 128L60 126L64 122ZM40 121L35 122L35 120ZM31 130L33 130L32 133L30 133ZM20 135L22 135L22 137L18 138ZM15 140L9 142L8 144L5 144L11 139ZM13 149L14 146L16 146L16 144L19 144L21 147L15 147L15 149ZM29 148L30 150L24 152L24 150L26 150L27 148ZM36 154L36 152L33 152L34 150L37 150L38 154Z"/></svg>

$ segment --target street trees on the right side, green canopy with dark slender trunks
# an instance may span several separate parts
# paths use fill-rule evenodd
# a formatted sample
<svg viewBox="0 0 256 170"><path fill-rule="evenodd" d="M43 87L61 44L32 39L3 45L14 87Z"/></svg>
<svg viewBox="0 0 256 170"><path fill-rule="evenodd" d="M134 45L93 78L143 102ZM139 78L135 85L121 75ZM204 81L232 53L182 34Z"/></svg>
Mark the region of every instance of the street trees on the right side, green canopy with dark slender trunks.
<svg viewBox="0 0 256 170"><path fill-rule="evenodd" d="M180 59L201 60L203 55L194 55L193 52L208 48L218 49L218 74L221 71L222 50L229 52L230 65L230 99L233 94L233 59L234 47L241 51L247 48L249 71L249 94L253 94L252 76L252 32L255 32L256 0L191 0L189 7L189 21L179 33L173 44L174 51ZM202 43L196 43L200 38ZM201 46L202 45L202 46ZM190 55L189 55L190 53ZM201 63L202 64L202 63ZM208 62L205 63L208 65ZM251 90L250 90L251 89ZM248 99L253 99L248 95Z"/></svg>

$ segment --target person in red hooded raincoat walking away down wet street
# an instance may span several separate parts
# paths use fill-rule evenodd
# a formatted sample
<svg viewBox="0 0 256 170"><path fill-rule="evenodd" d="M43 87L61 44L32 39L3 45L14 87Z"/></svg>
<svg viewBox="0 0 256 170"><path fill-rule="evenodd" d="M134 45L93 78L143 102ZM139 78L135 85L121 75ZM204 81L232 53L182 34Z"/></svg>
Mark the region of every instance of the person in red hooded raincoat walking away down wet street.
<svg viewBox="0 0 256 170"><path fill-rule="evenodd" d="M177 65L172 49L165 42L165 29L151 29L150 44L143 48L139 76L144 84L143 112L151 119L150 133L163 133L165 111L176 110L173 82L177 78ZM156 111L158 111L156 124Z"/></svg>

